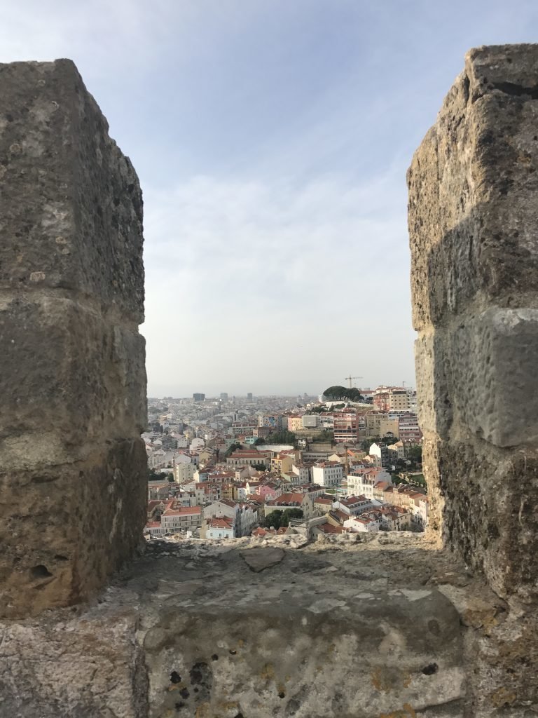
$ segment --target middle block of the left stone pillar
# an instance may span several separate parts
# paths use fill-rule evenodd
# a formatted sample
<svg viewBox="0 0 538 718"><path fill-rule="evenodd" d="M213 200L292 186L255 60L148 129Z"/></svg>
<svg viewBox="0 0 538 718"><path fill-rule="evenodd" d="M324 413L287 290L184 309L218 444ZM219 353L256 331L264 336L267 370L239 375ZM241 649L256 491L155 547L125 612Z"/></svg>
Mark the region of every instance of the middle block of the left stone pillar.
<svg viewBox="0 0 538 718"><path fill-rule="evenodd" d="M93 442L143 431L138 332L80 302L33 293L0 303L0 341L9 366L0 373L0 467L77 460Z"/></svg>

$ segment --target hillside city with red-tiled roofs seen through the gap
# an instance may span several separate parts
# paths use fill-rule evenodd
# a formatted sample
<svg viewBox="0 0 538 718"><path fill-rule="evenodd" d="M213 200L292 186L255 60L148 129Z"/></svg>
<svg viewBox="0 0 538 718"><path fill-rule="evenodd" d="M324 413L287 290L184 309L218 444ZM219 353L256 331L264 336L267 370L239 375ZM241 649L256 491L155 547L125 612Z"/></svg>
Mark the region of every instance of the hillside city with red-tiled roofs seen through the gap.
<svg viewBox="0 0 538 718"><path fill-rule="evenodd" d="M424 531L415 389L347 379L318 396L148 398L147 540Z"/></svg>

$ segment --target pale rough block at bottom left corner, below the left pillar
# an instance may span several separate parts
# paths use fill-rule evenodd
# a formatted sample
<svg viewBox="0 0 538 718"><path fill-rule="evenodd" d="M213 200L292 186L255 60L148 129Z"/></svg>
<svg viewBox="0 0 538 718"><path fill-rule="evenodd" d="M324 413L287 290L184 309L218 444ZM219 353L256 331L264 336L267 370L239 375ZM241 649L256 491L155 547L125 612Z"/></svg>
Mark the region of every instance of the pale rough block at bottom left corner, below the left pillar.
<svg viewBox="0 0 538 718"><path fill-rule="evenodd" d="M136 612L0 625L1 718L147 718Z"/></svg>

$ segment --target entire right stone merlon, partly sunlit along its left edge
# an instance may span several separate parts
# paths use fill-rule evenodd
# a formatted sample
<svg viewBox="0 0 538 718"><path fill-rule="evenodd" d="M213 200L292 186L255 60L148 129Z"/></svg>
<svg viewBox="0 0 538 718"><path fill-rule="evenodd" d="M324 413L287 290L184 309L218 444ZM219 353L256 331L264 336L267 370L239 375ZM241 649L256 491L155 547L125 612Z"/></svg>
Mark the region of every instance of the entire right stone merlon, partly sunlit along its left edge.
<svg viewBox="0 0 538 718"><path fill-rule="evenodd" d="M408 172L433 531L502 597L538 575L538 45L466 55Z"/></svg>

